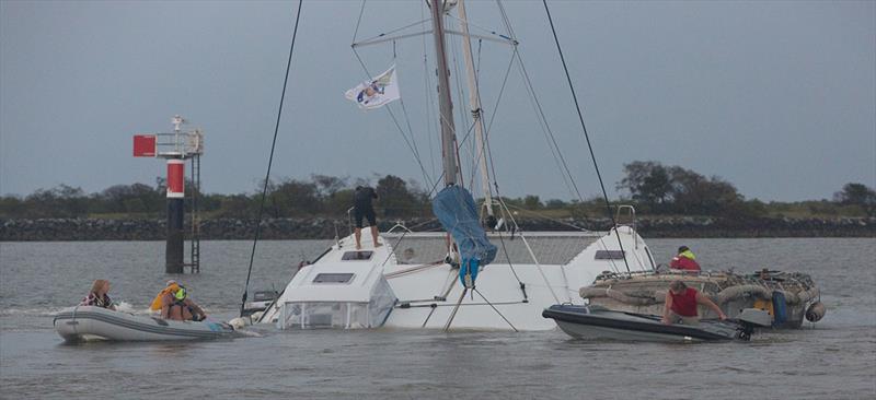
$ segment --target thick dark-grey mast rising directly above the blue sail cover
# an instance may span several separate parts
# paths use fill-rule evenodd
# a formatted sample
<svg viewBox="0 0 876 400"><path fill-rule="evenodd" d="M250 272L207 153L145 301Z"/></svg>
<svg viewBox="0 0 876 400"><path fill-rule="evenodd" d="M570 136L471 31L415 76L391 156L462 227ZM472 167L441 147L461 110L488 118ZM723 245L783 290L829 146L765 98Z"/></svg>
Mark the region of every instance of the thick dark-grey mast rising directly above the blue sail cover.
<svg viewBox="0 0 876 400"><path fill-rule="evenodd" d="M456 128L453 105L450 101L450 70L447 68L445 48L443 1L431 0L431 23L435 36L435 52L438 60L438 103L440 104L441 155L445 169L445 186L457 183Z"/></svg>

